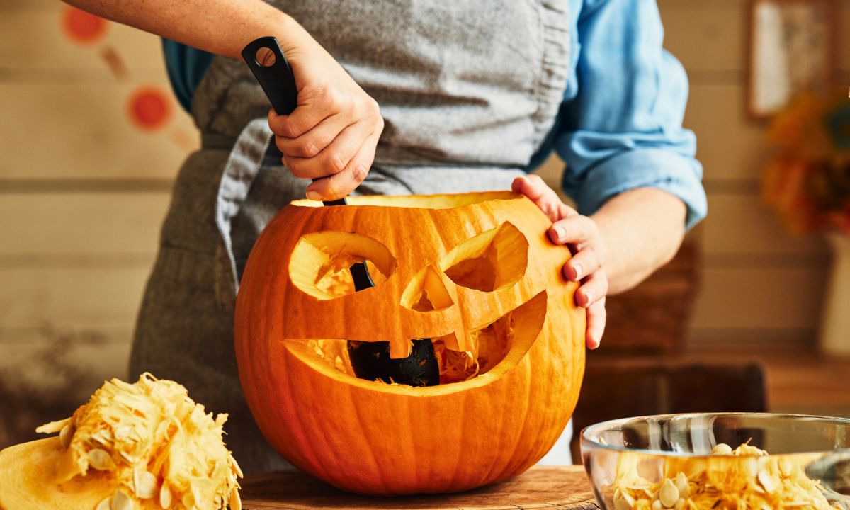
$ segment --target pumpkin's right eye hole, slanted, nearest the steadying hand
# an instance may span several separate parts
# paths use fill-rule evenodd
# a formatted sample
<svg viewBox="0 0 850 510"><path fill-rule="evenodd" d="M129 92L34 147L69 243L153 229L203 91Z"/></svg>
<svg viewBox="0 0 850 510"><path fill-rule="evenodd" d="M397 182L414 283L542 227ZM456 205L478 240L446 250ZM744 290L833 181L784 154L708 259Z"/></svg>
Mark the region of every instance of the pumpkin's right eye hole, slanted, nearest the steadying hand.
<svg viewBox="0 0 850 510"><path fill-rule="evenodd" d="M455 246L439 265L456 285L494 292L522 279L528 251L523 233L504 223Z"/></svg>

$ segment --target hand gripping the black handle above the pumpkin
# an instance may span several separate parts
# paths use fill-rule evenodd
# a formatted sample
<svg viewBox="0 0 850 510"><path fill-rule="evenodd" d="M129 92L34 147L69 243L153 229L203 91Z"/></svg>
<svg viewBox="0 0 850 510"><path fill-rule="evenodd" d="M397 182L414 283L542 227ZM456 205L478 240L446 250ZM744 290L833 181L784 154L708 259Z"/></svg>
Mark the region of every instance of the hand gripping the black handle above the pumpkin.
<svg viewBox="0 0 850 510"><path fill-rule="evenodd" d="M366 177L375 159L383 118L375 99L331 54L310 39L284 48L298 89L291 115L269 111L269 127L283 164L307 187L311 200L337 200Z"/></svg>

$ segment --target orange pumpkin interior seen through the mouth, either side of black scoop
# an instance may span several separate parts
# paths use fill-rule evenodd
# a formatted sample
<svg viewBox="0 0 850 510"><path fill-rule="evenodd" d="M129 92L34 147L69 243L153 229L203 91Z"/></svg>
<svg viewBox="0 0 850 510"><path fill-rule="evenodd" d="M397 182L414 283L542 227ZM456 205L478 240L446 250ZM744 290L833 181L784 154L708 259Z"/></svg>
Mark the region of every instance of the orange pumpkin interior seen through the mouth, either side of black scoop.
<svg viewBox="0 0 850 510"><path fill-rule="evenodd" d="M529 302L520 305L490 324L470 331L469 351L456 351L447 344L456 344L454 333L432 339L433 348L439 363L440 385L469 381L493 371L508 358L513 366L525 354L534 342L539 326L534 331L526 331L525 324L540 322L546 314L546 293L541 292ZM299 354L312 360L313 364L326 366L334 371L355 377L354 368L348 357L348 348L344 339L287 340L290 348L296 348ZM297 345L306 348L297 348ZM516 353L517 355L511 355ZM506 367L508 370L510 367ZM386 385L380 380L373 384ZM416 388L416 390L426 388Z"/></svg>

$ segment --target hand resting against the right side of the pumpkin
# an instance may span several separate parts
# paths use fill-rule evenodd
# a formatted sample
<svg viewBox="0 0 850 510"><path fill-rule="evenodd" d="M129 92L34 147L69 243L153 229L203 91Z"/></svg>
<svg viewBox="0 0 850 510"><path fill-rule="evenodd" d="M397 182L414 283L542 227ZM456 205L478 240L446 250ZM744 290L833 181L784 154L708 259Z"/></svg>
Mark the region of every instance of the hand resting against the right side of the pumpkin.
<svg viewBox="0 0 850 510"><path fill-rule="evenodd" d="M529 197L546 213L552 221L549 239L569 247L573 253L562 272L567 280L580 282L575 304L587 309L587 348L598 348L605 331L608 277L604 269L605 249L596 223L564 204L538 175L515 178L511 188L514 193Z"/></svg>

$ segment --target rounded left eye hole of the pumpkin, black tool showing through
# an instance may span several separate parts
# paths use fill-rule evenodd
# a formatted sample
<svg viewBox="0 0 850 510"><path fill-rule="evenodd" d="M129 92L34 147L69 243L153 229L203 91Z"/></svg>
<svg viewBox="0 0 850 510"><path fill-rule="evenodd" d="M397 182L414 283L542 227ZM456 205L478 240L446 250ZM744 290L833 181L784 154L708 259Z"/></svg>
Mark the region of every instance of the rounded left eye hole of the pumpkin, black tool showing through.
<svg viewBox="0 0 850 510"><path fill-rule="evenodd" d="M317 299L354 293L349 268L366 263L375 285L395 269L395 258L380 242L365 235L326 230L303 235L292 250L289 275L292 283Z"/></svg>

